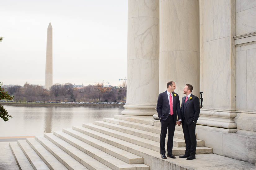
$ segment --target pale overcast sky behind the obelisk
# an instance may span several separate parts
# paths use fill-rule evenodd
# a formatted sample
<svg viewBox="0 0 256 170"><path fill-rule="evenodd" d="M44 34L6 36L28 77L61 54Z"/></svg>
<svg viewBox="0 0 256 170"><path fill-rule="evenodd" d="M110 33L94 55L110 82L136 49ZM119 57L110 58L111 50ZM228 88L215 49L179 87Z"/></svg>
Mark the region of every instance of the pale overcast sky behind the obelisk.
<svg viewBox="0 0 256 170"><path fill-rule="evenodd" d="M0 82L44 85L53 33L53 83L119 85L127 75L127 0L0 1Z"/></svg>

